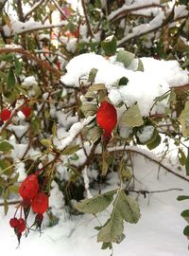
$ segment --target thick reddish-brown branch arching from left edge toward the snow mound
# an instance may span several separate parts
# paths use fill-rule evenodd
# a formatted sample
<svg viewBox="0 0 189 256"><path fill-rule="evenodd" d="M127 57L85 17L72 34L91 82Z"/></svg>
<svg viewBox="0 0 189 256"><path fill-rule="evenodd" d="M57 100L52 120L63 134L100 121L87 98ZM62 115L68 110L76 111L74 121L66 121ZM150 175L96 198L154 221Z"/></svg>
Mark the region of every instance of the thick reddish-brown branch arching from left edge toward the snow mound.
<svg viewBox="0 0 189 256"><path fill-rule="evenodd" d="M12 48L11 47L2 47L2 48L0 48L0 54L10 53L10 52L21 54L21 55L25 56L27 59L36 62L37 64L41 65L44 70L47 69L48 71L51 72L51 74L54 74L59 79L60 79L60 76L63 75L63 73L60 72L58 69L56 69L52 65L48 64L47 62L42 61L41 59L32 55L29 51L26 51L25 49L23 49L21 47L12 47Z"/></svg>

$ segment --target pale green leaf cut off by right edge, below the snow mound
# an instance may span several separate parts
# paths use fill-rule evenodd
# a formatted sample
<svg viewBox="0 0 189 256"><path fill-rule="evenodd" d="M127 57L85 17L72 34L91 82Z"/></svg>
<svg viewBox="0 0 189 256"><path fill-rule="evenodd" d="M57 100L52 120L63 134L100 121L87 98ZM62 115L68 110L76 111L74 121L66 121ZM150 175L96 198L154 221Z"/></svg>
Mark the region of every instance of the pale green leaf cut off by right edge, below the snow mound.
<svg viewBox="0 0 189 256"><path fill-rule="evenodd" d="M189 137L189 101L185 102L184 109L181 111L178 120L181 124L181 132L183 137Z"/></svg>

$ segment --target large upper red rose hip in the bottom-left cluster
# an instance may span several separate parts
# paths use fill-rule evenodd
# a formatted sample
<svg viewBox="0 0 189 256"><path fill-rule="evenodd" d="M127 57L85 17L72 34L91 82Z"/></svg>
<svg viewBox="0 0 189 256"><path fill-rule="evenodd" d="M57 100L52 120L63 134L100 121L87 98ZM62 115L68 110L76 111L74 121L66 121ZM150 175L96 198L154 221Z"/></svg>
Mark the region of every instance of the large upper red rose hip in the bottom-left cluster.
<svg viewBox="0 0 189 256"><path fill-rule="evenodd" d="M28 175L19 187L19 193L25 200L31 200L38 194L39 183L35 174Z"/></svg>

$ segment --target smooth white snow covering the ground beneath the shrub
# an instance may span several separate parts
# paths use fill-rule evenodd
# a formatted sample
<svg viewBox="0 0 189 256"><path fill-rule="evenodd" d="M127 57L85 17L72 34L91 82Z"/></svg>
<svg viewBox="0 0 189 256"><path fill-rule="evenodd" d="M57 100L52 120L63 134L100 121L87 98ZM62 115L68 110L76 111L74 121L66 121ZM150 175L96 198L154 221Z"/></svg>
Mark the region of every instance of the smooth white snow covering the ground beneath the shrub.
<svg viewBox="0 0 189 256"><path fill-rule="evenodd" d="M137 225L125 227L126 239L113 247L115 256L186 256L188 255L188 241L182 235L186 226L180 217L182 210L188 209L188 202L178 202L177 196L188 194L188 183L161 169L157 178L157 165L144 159L143 156L134 156L134 173L141 183L136 182L136 189L149 191L166 190L171 188L183 189L183 192L172 191L154 193L146 199L140 195L139 203L142 217ZM179 171L178 171L179 172ZM136 194L133 193L133 196ZM149 200L148 200L149 199ZM56 255L56 256L107 256L110 250L101 250L96 243L95 226L98 226L92 215L83 215L68 219L62 214L60 223L53 228L43 229L43 234L30 233L23 237L21 246L17 247L17 240L13 230L9 228L9 218L14 212L10 208L8 216L3 215L0 208L0 240L1 251L8 255ZM104 213L99 219L105 220Z"/></svg>

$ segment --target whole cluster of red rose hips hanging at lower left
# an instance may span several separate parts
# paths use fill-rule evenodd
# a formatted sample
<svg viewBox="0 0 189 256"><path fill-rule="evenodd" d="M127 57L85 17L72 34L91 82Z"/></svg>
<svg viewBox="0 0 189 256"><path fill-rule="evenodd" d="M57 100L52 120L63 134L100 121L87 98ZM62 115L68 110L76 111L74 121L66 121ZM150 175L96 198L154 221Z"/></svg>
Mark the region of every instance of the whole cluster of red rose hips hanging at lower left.
<svg viewBox="0 0 189 256"><path fill-rule="evenodd" d="M23 197L20 204L21 216L19 219L16 218L17 209L14 217L9 220L9 225L14 229L19 242L22 233L26 230L26 218L30 209L37 213L32 227L35 225L36 229L41 229L43 213L48 209L48 196L42 191L39 192L39 189L38 174L28 175L19 187L19 194ZM24 210L25 219L22 218L22 210Z"/></svg>

